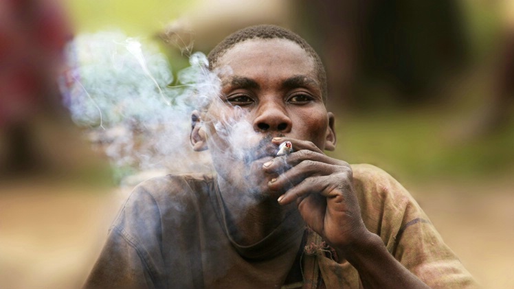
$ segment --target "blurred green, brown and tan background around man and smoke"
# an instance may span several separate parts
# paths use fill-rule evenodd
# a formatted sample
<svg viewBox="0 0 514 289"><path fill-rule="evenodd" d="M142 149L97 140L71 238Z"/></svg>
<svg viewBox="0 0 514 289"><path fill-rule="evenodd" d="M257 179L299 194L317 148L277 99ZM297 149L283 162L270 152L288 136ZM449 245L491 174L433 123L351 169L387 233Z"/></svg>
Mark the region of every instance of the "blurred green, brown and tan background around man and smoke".
<svg viewBox="0 0 514 289"><path fill-rule="evenodd" d="M483 288L514 287L514 1L1 0L0 288L80 288L147 176L123 182L72 121L65 44L119 30L178 71L257 23L322 56L331 155L390 172Z"/></svg>

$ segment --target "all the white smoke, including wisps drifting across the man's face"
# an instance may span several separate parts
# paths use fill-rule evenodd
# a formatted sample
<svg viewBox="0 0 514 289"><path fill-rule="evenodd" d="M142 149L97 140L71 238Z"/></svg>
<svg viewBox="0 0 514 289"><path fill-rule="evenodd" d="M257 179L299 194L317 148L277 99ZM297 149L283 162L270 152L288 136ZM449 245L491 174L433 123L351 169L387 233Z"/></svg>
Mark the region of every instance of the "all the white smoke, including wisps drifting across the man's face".
<svg viewBox="0 0 514 289"><path fill-rule="evenodd" d="M94 146L109 157L122 185L132 187L166 173L212 172L209 150L194 152L189 137L192 111L209 105L212 112L203 110L201 119L207 137L219 137L224 140L220 146L230 146L210 147L218 156L213 158L225 168L241 169L225 177L247 190L230 200L239 208L231 211L231 218L246 218L247 208L265 198L257 192L267 185L264 173L255 175L236 164L255 167L256 159L274 156L273 136L254 130L247 109L223 102L218 75L230 75L230 67L211 72L205 55L194 53L190 66L177 71L174 79L157 46L120 32L78 35L67 54L69 65L60 83L63 102ZM168 205L183 210L181 203Z"/></svg>

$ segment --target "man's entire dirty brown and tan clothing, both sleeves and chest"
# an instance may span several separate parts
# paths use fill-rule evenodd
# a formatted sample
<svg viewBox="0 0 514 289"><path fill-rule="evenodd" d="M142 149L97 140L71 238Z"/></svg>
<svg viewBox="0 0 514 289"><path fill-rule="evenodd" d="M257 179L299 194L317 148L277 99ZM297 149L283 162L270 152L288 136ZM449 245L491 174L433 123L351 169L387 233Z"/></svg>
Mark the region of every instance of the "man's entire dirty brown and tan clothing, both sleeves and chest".
<svg viewBox="0 0 514 289"><path fill-rule="evenodd" d="M405 188L372 165L352 165L364 224L431 288L476 288ZM216 185L204 174L138 185L110 229L85 288L362 288L359 274L291 213L241 246ZM300 225L299 225L300 224Z"/></svg>

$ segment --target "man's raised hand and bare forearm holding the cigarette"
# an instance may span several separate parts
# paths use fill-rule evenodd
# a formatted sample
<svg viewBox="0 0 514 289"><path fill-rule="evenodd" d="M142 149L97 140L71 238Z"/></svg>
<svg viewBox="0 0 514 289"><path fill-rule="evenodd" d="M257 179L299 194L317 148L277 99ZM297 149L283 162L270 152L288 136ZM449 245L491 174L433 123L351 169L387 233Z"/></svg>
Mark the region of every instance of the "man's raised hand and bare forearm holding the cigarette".
<svg viewBox="0 0 514 289"><path fill-rule="evenodd" d="M273 161L264 170L287 170L269 184L270 189L284 192L281 205L295 201L306 224L330 244L342 259L359 272L365 288L429 288L398 262L382 240L366 229L348 163L327 157L313 143L295 139L298 150Z"/></svg>

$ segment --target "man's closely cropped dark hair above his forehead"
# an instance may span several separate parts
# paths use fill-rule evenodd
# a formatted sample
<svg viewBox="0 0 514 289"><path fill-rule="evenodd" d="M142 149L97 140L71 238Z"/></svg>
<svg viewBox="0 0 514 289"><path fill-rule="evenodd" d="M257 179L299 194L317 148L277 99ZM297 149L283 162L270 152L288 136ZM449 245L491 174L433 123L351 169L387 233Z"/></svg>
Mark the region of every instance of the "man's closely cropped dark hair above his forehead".
<svg viewBox="0 0 514 289"><path fill-rule="evenodd" d="M304 51L309 54L313 60L315 65L315 70L317 74L318 80L320 80L320 89L322 91L322 97L324 102L326 103L327 98L327 89L326 89L326 72L323 62L320 56L316 53L316 51L307 43L304 38L295 34L291 30L287 30L283 27L279 27L276 25L254 25L238 30L225 38L221 43L216 45L214 49L210 51L207 58L209 60L209 69L214 69L216 67L216 63L219 58L225 54L228 50L234 47L236 44L241 43L243 41L260 38L260 39L273 39L273 38L282 38L287 39L289 41L293 41L294 43L300 45Z"/></svg>

